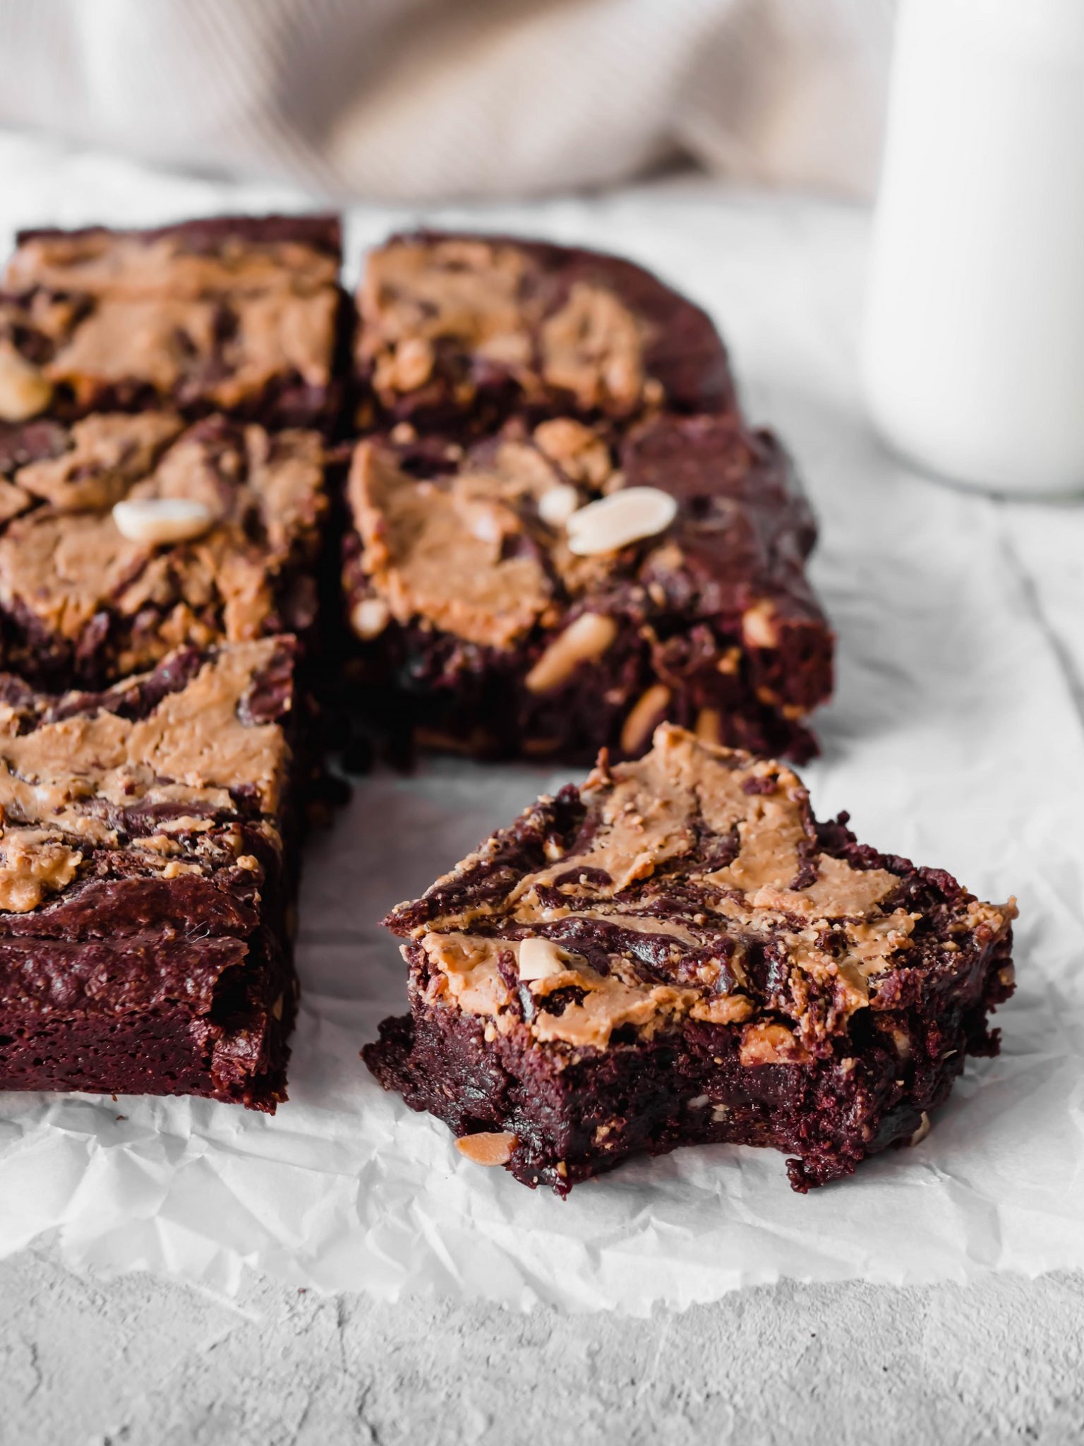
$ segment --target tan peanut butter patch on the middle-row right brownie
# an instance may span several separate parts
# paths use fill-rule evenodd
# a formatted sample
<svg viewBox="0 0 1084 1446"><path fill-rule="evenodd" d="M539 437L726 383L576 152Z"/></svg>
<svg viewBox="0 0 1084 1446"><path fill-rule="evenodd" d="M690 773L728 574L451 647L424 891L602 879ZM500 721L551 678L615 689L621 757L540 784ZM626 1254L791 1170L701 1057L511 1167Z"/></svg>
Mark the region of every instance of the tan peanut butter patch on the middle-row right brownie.
<svg viewBox="0 0 1084 1446"><path fill-rule="evenodd" d="M568 416L457 461L452 473L434 469L419 479L387 442L356 448L347 493L361 570L387 609L360 612L356 632L379 636L390 616L504 649L538 625L546 635L525 685L538 694L562 688L619 633L606 612L568 622L581 597L604 597L620 564L617 549L577 557L567 525L600 492L620 495L621 474L598 432Z"/></svg>

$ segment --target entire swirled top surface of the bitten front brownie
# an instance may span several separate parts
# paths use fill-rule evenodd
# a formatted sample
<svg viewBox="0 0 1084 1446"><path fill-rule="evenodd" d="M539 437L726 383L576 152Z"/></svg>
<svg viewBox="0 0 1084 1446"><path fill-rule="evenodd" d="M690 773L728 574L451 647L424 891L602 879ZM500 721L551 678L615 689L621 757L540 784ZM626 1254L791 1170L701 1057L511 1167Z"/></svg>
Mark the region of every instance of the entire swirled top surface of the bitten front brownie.
<svg viewBox="0 0 1084 1446"><path fill-rule="evenodd" d="M818 824L783 765L663 724L386 923L415 940L428 1001L500 1034L603 1050L691 1019L740 1027L762 1064L846 1051L860 1009L890 1028L918 979L1013 915Z"/></svg>

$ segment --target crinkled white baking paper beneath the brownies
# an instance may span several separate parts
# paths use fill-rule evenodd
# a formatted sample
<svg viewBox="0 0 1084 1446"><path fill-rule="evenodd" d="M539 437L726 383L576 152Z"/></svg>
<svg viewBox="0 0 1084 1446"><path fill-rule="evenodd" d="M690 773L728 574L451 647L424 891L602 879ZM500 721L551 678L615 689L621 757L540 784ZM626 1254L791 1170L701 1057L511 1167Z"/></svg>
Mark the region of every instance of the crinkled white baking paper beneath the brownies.
<svg viewBox="0 0 1084 1446"><path fill-rule="evenodd" d="M302 205L0 137L0 230ZM351 217L351 247L402 214ZM439 220L470 221L468 213ZM754 414L792 444L822 522L840 638L805 769L818 811L882 849L1016 894L1019 992L997 1060L968 1063L916 1148L792 1194L780 1155L642 1160L532 1193L358 1060L405 1004L377 920L562 774L449 761L358 782L311 847L291 1100L0 1096L0 1255L217 1290L246 1267L321 1290L428 1291L636 1314L780 1277L909 1283L1084 1267L1084 512L954 492L890 461L856 383L866 217L669 182L490 208L481 224L629 252L711 307Z"/></svg>

